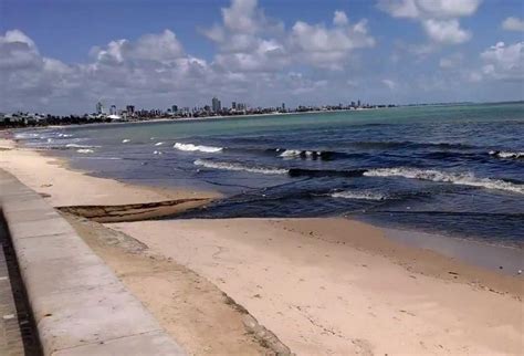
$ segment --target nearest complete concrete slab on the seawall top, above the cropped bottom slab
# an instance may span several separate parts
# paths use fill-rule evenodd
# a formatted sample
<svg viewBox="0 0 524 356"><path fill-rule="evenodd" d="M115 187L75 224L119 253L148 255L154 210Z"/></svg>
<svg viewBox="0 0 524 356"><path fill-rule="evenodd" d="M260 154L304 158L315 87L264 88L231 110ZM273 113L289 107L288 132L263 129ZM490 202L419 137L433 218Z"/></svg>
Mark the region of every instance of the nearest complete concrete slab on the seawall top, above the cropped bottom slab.
<svg viewBox="0 0 524 356"><path fill-rule="evenodd" d="M53 294L39 299L33 305L42 346L48 354L161 332L156 320L145 314L142 303L120 284Z"/></svg>

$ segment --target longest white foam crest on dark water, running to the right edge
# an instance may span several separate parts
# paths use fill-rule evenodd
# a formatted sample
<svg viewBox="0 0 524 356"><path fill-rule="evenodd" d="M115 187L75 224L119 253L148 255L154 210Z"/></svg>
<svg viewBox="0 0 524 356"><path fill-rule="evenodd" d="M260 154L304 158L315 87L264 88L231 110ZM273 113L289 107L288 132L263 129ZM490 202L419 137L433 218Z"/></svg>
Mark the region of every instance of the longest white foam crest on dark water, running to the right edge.
<svg viewBox="0 0 524 356"><path fill-rule="evenodd" d="M405 177L410 179L431 180L450 182L453 185L463 185L471 187L480 187L486 189L497 189L524 193L524 185L516 185L509 181L491 178L478 178L472 174L449 174L433 169L418 168L377 168L364 172L367 177Z"/></svg>

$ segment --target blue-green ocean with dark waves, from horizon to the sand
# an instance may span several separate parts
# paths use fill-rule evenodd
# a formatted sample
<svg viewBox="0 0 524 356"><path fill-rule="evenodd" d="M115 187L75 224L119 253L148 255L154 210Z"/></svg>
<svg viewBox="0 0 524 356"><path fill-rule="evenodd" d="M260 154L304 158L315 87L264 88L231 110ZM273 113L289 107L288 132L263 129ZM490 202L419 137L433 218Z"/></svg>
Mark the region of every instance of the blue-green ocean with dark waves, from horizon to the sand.
<svg viewBox="0 0 524 356"><path fill-rule="evenodd" d="M126 182L219 190L181 218L349 217L522 249L524 104L24 129Z"/></svg>

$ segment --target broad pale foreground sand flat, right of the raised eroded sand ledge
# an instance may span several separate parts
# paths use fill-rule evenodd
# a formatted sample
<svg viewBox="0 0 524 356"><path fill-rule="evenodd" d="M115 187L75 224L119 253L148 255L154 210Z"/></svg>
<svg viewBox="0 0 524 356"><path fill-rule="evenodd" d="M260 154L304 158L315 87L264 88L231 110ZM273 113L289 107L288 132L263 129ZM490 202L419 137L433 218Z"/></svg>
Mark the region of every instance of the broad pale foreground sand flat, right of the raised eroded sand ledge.
<svg viewBox="0 0 524 356"><path fill-rule="evenodd" d="M360 222L232 219L111 227L209 279L301 355L523 350L522 280L499 278L512 293L490 291L497 278L485 271L475 283L455 282L454 275L473 268L422 250L406 254L411 260L399 265L380 254L390 245L381 231ZM432 276L434 270L451 280Z"/></svg>

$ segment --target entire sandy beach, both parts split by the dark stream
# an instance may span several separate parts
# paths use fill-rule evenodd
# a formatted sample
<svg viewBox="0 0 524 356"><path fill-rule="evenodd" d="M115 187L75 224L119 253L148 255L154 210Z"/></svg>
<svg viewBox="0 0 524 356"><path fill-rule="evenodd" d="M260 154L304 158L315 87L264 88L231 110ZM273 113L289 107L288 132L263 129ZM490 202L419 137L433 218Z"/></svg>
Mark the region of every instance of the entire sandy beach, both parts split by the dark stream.
<svg viewBox="0 0 524 356"><path fill-rule="evenodd" d="M1 168L56 208L220 197L91 177L10 140L0 147ZM401 244L363 222L66 217L191 354L264 352L222 293L298 355L523 349L522 276Z"/></svg>

